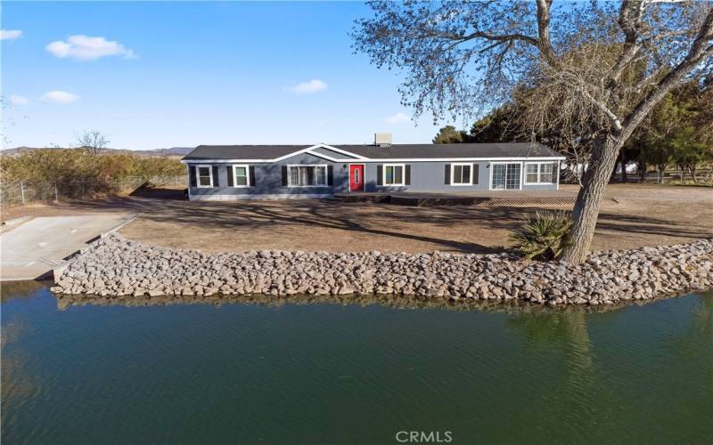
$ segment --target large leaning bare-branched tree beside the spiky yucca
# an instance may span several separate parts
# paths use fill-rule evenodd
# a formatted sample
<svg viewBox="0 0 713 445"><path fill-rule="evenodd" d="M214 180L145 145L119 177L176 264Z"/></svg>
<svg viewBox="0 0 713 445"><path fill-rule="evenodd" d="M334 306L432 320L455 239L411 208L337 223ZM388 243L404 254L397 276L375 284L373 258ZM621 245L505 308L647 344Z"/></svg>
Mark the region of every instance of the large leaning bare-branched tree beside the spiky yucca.
<svg viewBox="0 0 713 445"><path fill-rule="evenodd" d="M586 256L629 136L673 88L713 72L710 2L370 5L375 16L356 23L356 51L405 70L399 91L415 115L478 115L532 89L522 109L533 133L570 128L571 142L591 147L564 254L570 263Z"/></svg>

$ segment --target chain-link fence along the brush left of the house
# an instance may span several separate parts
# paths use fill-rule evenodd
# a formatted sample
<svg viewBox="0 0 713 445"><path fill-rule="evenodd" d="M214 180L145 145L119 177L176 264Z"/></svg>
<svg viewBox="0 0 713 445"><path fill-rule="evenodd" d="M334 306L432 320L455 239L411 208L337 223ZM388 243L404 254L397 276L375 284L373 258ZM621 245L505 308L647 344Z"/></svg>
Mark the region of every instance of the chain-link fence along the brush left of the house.
<svg viewBox="0 0 713 445"><path fill-rule="evenodd" d="M132 193L142 188L184 187L185 176L127 176L120 179L77 178L57 181L16 181L0 184L0 206L43 201L90 199L102 194Z"/></svg>

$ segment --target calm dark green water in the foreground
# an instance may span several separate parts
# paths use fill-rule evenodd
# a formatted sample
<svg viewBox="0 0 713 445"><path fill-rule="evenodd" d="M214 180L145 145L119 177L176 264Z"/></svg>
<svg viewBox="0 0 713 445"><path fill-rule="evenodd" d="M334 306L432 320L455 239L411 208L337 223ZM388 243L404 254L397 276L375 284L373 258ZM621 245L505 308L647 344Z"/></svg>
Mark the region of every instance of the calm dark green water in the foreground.
<svg viewBox="0 0 713 445"><path fill-rule="evenodd" d="M713 440L713 293L491 313L60 310L44 287L3 290L3 444Z"/></svg>

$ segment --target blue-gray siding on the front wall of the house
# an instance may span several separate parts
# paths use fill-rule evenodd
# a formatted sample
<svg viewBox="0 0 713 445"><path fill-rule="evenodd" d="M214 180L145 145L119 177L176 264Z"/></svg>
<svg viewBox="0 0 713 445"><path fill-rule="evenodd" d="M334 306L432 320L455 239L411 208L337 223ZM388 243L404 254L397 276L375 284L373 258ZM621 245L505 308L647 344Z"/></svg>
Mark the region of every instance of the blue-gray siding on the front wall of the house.
<svg viewBox="0 0 713 445"><path fill-rule="evenodd" d="M332 153L330 153L332 156ZM353 161L360 164L359 161ZM457 164L457 162L455 162ZM283 187L282 167L290 165L328 165L332 166L333 185L331 187ZM446 183L446 166L452 162L398 162L395 164L405 164L411 166L411 183L404 186L378 185L377 169L384 163L365 162L365 191L432 191L432 192L467 192L490 190L490 166L489 162L475 162L479 166L478 183L472 185L452 185ZM198 165L189 164L190 166ZM219 164L218 183L219 187L197 188L190 187L192 197L225 197L231 198L243 195L245 198L258 195L331 195L348 191L348 168L345 163L334 163L324 158L319 158L311 154L302 153L291 158L273 164L258 163L250 164L255 167L255 185L253 187L235 188L227 185L227 170L225 166L231 164ZM524 164L521 167L524 172ZM533 184L524 183L524 176L521 177L522 190L556 190L557 184Z"/></svg>

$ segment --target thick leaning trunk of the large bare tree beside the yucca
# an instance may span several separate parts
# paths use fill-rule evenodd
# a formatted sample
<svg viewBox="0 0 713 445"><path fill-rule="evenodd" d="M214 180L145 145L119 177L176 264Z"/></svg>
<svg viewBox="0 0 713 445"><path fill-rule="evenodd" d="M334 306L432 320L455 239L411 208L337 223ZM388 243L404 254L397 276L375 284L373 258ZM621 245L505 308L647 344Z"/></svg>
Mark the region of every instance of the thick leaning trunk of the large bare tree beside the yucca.
<svg viewBox="0 0 713 445"><path fill-rule="evenodd" d="M567 263L582 263L589 251L594 238L599 205L622 145L610 136L604 136L594 142L589 168L572 209L570 246L562 254L562 259Z"/></svg>

